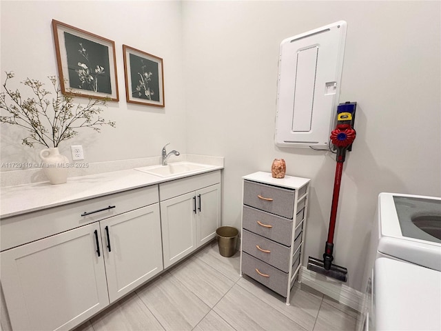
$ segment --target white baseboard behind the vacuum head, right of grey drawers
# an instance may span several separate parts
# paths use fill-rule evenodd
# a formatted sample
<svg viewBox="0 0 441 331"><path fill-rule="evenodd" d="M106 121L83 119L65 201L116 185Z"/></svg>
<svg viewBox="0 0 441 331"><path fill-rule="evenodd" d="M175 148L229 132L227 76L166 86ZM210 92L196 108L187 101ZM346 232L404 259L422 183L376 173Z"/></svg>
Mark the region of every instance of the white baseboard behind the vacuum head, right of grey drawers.
<svg viewBox="0 0 441 331"><path fill-rule="evenodd" d="M341 281L308 270L305 266L302 266L300 281L358 312L362 311L362 292L350 288Z"/></svg>

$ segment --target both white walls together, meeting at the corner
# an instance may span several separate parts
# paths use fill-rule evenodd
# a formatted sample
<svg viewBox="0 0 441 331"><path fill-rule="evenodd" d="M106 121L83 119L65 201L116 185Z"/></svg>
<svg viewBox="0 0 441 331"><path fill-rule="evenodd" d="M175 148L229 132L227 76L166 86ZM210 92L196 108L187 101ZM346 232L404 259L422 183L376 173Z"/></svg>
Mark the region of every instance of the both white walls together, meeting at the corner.
<svg viewBox="0 0 441 331"><path fill-rule="evenodd" d="M362 289L379 192L441 196L438 1L1 1L0 10L2 83L5 70L17 81L57 74L52 19L116 43L120 101L104 116L117 128L83 131L61 146L64 154L82 144L87 162L134 159L171 141L181 152L225 156L223 221L237 227L240 177L282 157L288 174L312 179L305 255L313 257L326 241L335 161L274 146L278 47L343 19L340 101L358 102L358 136L342 177L334 252L349 286ZM125 102L123 43L164 59L165 108ZM1 162L37 160L38 148L22 146L13 129L1 126Z"/></svg>

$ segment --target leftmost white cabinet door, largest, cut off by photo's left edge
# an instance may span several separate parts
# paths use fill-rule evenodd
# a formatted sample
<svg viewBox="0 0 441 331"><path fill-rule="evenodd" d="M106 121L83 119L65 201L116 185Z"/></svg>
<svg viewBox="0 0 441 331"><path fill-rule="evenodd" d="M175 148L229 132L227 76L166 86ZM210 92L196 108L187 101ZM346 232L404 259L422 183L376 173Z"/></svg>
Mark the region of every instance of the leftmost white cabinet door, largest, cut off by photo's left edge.
<svg viewBox="0 0 441 331"><path fill-rule="evenodd" d="M92 223L1 253L13 330L68 330L108 305L96 236L99 223Z"/></svg>

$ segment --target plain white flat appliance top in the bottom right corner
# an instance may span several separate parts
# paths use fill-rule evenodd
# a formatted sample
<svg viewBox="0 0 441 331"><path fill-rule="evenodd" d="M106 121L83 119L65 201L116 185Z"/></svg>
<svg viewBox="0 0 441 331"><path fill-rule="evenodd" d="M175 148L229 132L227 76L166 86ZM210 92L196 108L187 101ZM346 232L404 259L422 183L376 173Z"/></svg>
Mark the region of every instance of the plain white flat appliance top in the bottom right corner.
<svg viewBox="0 0 441 331"><path fill-rule="evenodd" d="M441 330L441 272L393 259L376 259L375 330Z"/></svg>

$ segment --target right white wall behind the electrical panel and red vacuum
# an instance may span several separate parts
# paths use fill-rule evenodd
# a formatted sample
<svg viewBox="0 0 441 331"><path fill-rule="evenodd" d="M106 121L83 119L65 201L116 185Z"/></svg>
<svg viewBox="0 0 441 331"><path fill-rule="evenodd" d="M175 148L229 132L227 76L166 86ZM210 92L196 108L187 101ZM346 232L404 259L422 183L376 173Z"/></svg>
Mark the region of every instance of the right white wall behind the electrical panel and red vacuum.
<svg viewBox="0 0 441 331"><path fill-rule="evenodd" d="M340 102L358 102L358 135L334 262L362 290L378 193L441 196L440 2L190 1L183 10L187 151L225 156L223 221L240 226L240 177L284 158L288 174L312 179L305 255L320 259L336 163L329 152L274 145L278 47L347 21Z"/></svg>

